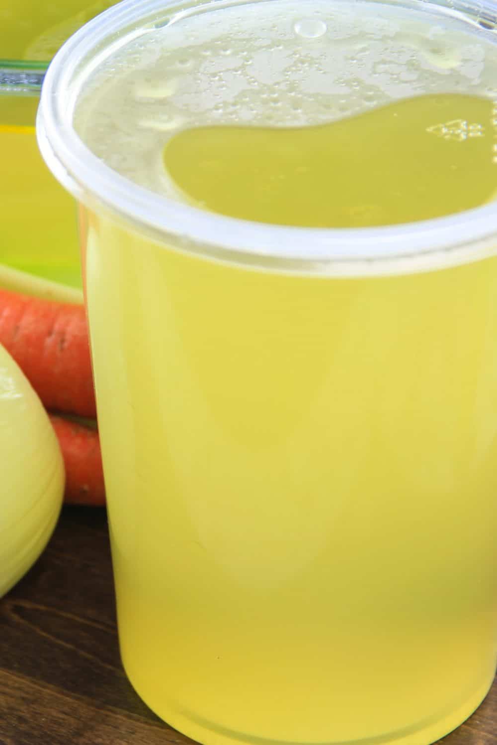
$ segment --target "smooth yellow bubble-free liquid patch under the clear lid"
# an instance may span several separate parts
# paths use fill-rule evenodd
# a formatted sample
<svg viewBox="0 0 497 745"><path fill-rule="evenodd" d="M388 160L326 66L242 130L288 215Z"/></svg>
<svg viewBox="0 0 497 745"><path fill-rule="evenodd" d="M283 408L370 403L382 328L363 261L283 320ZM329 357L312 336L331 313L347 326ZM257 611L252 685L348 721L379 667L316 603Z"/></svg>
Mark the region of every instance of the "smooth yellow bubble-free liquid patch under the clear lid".
<svg viewBox="0 0 497 745"><path fill-rule="evenodd" d="M165 146L174 184L233 218L309 227L428 220L480 206L497 189L494 104L404 99L317 127L196 127Z"/></svg>

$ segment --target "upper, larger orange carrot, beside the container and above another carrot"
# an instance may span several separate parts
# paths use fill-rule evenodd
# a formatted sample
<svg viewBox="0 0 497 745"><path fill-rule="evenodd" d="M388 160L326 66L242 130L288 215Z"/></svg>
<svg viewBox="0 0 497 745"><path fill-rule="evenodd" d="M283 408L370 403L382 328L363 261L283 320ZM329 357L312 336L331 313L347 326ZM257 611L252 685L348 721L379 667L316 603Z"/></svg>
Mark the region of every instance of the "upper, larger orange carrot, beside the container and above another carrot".
<svg viewBox="0 0 497 745"><path fill-rule="evenodd" d="M95 391L83 305L0 290L0 344L45 408L95 417Z"/></svg>

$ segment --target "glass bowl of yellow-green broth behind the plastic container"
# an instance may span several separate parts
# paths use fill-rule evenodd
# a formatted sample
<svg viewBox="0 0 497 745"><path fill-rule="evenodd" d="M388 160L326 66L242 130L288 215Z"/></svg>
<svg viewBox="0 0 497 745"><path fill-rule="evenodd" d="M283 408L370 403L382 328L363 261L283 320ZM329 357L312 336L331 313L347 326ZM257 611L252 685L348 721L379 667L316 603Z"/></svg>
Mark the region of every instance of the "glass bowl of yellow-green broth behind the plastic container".
<svg viewBox="0 0 497 745"><path fill-rule="evenodd" d="M77 28L113 4L114 0L2 4L0 286L46 294L48 283L39 280L48 280L57 283L51 291L48 288L53 297L80 299L75 200L46 168L34 124L51 58Z"/></svg>

